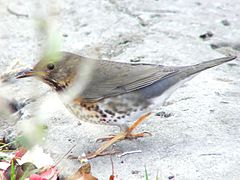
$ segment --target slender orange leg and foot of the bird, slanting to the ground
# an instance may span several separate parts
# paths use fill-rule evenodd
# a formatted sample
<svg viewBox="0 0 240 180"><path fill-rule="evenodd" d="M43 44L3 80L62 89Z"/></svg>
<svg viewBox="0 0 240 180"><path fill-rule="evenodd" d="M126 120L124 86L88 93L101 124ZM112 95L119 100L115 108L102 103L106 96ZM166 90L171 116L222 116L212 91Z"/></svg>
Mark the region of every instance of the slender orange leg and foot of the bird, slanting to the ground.
<svg viewBox="0 0 240 180"><path fill-rule="evenodd" d="M147 113L140 117L131 127L129 127L126 131L120 132L119 134L115 135L112 137L110 140L106 141L102 146L97 149L94 153L89 153L86 155L87 159L92 159L97 156L104 156L104 155L109 155L109 154L116 154L116 151L106 151L107 148L109 148L112 144L124 140L124 139L133 139L133 138L138 138L138 137L144 137L145 132L143 133L138 133L138 134L131 134L132 131L139 125L141 124L151 113Z"/></svg>

